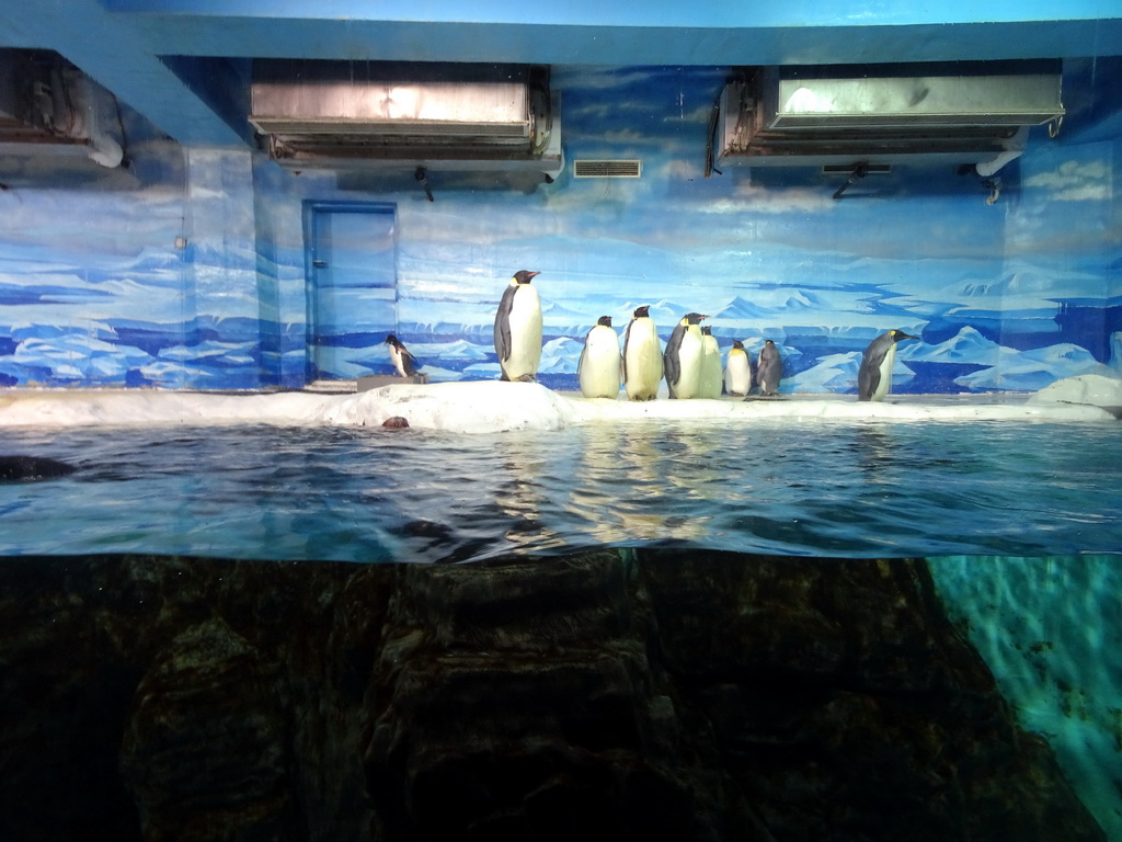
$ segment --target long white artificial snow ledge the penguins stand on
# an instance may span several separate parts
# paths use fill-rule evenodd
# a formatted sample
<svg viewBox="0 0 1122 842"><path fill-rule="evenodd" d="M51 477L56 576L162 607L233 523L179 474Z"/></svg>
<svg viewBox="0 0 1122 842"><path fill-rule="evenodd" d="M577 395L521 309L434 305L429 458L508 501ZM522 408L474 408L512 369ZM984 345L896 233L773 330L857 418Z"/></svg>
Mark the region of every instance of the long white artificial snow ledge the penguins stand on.
<svg viewBox="0 0 1122 842"><path fill-rule="evenodd" d="M1028 401L1001 396L902 395L884 403L852 396L784 400L586 400L536 383L401 384L357 394L284 392L260 395L164 391L0 392L0 427L231 424L379 427L402 417L410 427L450 432L559 430L571 424L673 419L699 423L816 421L1113 421L1101 406L1122 406L1122 381L1085 375Z"/></svg>

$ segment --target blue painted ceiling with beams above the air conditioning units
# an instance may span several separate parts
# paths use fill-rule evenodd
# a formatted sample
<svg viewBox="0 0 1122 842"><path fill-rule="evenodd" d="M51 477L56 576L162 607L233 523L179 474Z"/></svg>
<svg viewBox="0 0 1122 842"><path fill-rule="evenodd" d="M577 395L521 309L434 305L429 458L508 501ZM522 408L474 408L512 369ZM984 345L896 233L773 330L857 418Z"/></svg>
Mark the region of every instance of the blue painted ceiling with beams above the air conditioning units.
<svg viewBox="0 0 1122 842"><path fill-rule="evenodd" d="M1122 55L1119 0L0 0L0 47L62 54L188 145L250 143L252 58L560 66ZM1103 99L1113 102L1114 95ZM1122 135L1119 106L1085 132Z"/></svg>

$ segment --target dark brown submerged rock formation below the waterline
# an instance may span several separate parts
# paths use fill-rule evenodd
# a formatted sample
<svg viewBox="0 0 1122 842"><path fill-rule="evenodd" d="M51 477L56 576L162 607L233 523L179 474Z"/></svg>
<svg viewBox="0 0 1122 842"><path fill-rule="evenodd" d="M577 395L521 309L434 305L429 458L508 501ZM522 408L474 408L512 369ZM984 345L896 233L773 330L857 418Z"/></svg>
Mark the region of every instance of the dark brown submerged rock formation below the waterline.
<svg viewBox="0 0 1122 842"><path fill-rule="evenodd" d="M0 562L0 839L1103 840L914 560Z"/></svg>

